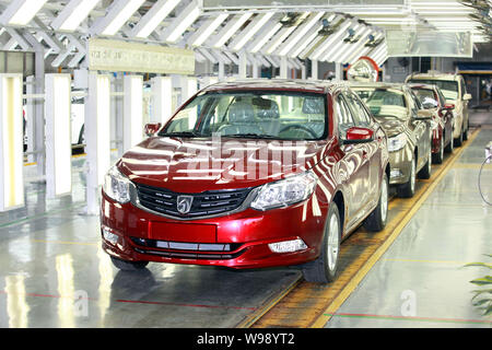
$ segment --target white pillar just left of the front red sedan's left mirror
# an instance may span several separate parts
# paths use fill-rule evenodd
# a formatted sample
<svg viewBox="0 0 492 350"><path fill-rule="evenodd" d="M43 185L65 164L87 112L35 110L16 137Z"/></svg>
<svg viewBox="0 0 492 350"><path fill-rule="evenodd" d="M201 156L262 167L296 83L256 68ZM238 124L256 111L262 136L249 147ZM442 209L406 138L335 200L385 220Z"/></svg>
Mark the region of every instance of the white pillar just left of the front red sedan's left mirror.
<svg viewBox="0 0 492 350"><path fill-rule="evenodd" d="M143 139L143 77L124 78L124 152Z"/></svg>

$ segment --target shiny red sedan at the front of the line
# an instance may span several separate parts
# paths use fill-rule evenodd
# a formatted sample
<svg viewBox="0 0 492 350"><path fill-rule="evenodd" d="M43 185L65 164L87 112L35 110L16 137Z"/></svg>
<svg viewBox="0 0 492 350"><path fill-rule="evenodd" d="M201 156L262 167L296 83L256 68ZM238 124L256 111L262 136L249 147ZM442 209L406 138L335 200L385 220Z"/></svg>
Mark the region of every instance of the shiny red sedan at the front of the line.
<svg viewBox="0 0 492 350"><path fill-rule="evenodd" d="M386 133L343 84L245 80L210 85L105 176L104 250L149 261L336 277L342 240L386 224Z"/></svg>

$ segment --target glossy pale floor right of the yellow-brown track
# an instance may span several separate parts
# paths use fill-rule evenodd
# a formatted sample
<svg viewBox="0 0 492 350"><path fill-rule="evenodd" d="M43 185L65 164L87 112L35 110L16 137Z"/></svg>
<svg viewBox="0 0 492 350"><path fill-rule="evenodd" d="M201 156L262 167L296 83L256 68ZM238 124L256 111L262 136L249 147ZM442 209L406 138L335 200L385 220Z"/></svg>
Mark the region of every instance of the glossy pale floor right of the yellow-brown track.
<svg viewBox="0 0 492 350"><path fill-rule="evenodd" d="M489 141L492 128L483 126L326 327L492 327L471 305L469 283L489 271L462 267L492 254L492 207L477 185ZM492 201L492 167L482 176Z"/></svg>

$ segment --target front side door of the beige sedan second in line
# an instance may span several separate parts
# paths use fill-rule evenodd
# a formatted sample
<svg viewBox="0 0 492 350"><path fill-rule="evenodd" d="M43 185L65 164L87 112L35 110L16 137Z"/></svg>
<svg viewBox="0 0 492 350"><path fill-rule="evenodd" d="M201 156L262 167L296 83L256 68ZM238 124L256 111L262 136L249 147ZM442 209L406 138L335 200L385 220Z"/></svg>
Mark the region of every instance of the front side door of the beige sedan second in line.
<svg viewBox="0 0 492 350"><path fill-rule="evenodd" d="M431 152L432 147L432 132L431 132L431 122L430 120L421 120L418 119L419 105L420 102L413 95L412 92L407 92L408 96L408 108L410 108L410 129L412 129L413 135L417 140L418 148L418 156L417 160L417 170L422 168L429 159L429 153Z"/></svg>

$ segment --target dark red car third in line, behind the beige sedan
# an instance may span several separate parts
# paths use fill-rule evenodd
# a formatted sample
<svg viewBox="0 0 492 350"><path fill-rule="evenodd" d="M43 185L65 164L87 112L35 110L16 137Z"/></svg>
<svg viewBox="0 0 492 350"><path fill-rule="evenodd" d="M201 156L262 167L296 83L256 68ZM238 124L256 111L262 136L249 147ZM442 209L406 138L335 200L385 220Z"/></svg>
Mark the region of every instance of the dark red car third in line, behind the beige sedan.
<svg viewBox="0 0 492 350"><path fill-rule="evenodd" d="M446 104L440 88L427 84L410 84L423 108L432 113L432 162L443 163L444 152L453 152L453 109Z"/></svg>

